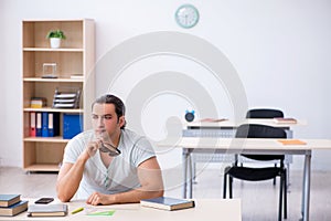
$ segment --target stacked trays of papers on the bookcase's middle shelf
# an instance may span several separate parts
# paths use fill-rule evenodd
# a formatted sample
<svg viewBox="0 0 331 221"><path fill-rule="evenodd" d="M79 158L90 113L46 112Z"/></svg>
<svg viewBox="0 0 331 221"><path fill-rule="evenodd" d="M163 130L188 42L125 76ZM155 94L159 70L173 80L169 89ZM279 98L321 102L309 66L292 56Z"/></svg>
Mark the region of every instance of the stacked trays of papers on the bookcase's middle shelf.
<svg viewBox="0 0 331 221"><path fill-rule="evenodd" d="M78 108L81 90L75 87L56 88L53 99L53 108Z"/></svg>

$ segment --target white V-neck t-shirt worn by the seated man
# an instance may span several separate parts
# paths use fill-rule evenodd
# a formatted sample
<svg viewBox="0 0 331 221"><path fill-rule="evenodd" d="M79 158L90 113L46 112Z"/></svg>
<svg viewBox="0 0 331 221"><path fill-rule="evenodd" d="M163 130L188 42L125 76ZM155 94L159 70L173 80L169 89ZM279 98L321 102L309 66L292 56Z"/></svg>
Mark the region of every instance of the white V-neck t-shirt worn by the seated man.
<svg viewBox="0 0 331 221"><path fill-rule="evenodd" d="M93 130L83 131L71 139L65 147L63 162L74 164L92 140L95 140ZM111 194L140 187L137 168L156 156L151 144L142 136L122 129L117 148L121 154L113 158L108 168L102 161L99 151L86 161L75 198L87 199L95 191Z"/></svg>

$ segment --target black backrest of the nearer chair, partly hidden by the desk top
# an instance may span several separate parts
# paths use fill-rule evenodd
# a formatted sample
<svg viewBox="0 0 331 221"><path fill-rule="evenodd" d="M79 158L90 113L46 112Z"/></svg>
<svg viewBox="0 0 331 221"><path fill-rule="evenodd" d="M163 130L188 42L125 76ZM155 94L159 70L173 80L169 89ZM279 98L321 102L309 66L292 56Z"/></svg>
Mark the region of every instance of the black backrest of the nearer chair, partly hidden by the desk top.
<svg viewBox="0 0 331 221"><path fill-rule="evenodd" d="M236 138L287 138L282 128L267 125L243 124L236 130ZM243 155L255 160L284 160L284 155Z"/></svg>

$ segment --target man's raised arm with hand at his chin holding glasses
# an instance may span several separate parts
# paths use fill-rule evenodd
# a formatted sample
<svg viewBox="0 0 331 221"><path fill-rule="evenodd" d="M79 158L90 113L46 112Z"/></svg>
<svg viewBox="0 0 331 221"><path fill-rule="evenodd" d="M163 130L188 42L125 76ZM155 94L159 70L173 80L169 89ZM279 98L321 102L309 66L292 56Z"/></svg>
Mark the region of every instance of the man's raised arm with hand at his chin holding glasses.
<svg viewBox="0 0 331 221"><path fill-rule="evenodd" d="M94 156L99 146L99 141L92 141L78 156L75 164L65 162L62 165L57 181L57 198L63 202L68 202L76 193L83 178L84 167L89 157Z"/></svg>

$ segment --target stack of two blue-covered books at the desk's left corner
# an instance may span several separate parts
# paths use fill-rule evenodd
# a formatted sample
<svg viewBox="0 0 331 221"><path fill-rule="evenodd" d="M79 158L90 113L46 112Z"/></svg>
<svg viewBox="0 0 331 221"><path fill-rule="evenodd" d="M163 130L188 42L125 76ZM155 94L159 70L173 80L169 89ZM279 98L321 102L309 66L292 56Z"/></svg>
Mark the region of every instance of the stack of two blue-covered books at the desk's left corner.
<svg viewBox="0 0 331 221"><path fill-rule="evenodd" d="M20 194L0 194L0 215L13 217L28 209L28 200Z"/></svg>

